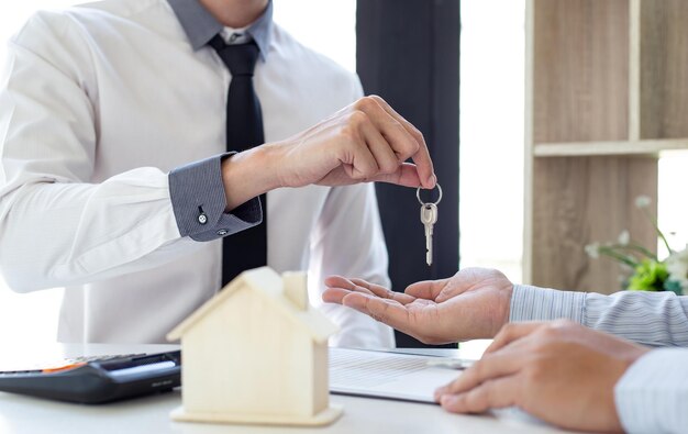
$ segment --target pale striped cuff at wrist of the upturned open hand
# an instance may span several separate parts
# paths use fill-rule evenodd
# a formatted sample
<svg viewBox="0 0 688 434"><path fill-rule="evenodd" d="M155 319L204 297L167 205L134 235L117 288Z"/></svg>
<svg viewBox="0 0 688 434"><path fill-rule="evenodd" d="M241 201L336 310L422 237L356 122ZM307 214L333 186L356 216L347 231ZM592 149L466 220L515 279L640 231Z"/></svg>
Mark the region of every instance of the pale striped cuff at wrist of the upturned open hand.
<svg viewBox="0 0 688 434"><path fill-rule="evenodd" d="M509 321L568 319L582 324L585 302L585 292L557 291L530 285L514 285Z"/></svg>

